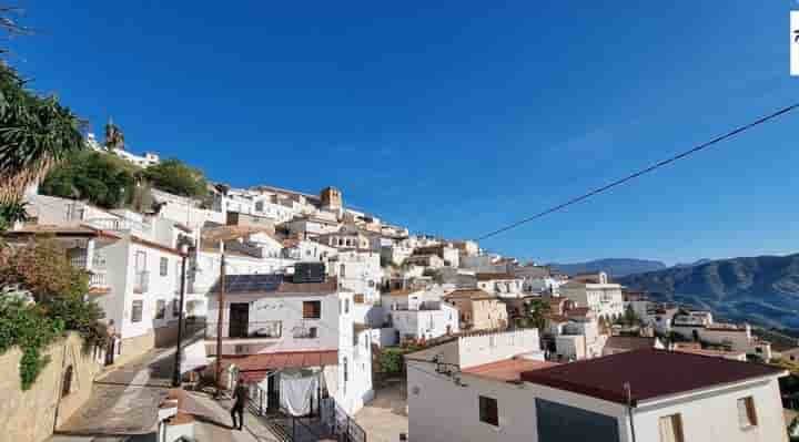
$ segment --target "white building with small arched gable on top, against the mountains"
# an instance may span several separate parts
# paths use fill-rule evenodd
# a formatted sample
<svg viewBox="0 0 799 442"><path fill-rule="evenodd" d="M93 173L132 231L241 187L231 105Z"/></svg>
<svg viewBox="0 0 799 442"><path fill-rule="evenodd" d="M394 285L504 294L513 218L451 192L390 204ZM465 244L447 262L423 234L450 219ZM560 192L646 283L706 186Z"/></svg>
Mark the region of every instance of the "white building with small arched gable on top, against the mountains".
<svg viewBox="0 0 799 442"><path fill-rule="evenodd" d="M608 282L607 275L578 275L560 286L560 296L578 307L590 308L597 317L615 318L624 315L621 286Z"/></svg>

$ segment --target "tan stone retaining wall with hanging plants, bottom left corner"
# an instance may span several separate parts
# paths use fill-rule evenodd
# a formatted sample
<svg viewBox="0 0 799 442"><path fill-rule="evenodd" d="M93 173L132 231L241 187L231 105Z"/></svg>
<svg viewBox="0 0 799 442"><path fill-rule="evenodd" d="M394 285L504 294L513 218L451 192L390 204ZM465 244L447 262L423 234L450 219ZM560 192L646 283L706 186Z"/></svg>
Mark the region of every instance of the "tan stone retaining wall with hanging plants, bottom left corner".
<svg viewBox="0 0 799 442"><path fill-rule="evenodd" d="M83 341L77 333L54 342L44 352L50 363L28 391L20 387L19 362L22 351L13 348L0 354L0 429L2 439L14 442L41 442L65 422L91 395L94 377L102 368L102 352L83 354ZM61 397L63 378L72 367L69 393ZM58 420L58 422L57 422Z"/></svg>

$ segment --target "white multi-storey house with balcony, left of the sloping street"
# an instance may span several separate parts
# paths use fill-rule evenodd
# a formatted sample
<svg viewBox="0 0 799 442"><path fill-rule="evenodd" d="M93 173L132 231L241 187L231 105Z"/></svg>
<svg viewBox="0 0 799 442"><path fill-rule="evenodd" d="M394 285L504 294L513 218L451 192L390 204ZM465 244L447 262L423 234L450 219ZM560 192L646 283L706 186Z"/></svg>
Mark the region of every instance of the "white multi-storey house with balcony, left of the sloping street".
<svg viewBox="0 0 799 442"><path fill-rule="evenodd" d="M117 338L109 353L122 363L153 347L172 345L178 335L183 254L176 243L191 243L192 236L175 229L171 240L159 243L153 234L164 234L163 223L145 225L149 237L129 223L108 223L108 228L29 225L4 235L11 241L54 238L72 264L90 274L89 299L104 311L103 320Z"/></svg>

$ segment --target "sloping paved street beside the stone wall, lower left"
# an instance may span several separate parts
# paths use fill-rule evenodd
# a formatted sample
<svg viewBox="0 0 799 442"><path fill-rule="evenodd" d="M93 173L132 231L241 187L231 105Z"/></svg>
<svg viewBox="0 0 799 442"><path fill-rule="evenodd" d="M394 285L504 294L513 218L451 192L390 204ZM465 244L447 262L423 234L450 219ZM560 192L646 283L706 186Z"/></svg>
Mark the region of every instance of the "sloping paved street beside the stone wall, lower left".
<svg viewBox="0 0 799 442"><path fill-rule="evenodd" d="M95 380L89 402L59 428L62 439L54 441L71 442L63 439L67 435L151 433L156 424L158 404L170 388L172 356L170 350L152 350ZM104 442L99 438L94 441Z"/></svg>

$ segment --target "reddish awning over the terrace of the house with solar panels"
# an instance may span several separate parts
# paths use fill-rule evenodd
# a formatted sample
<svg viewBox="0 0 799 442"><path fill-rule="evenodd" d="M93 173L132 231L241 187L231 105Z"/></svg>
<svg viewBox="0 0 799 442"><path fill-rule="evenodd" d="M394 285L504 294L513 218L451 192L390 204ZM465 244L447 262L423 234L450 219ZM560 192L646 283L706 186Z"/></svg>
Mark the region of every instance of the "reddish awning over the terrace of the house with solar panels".
<svg viewBox="0 0 799 442"><path fill-rule="evenodd" d="M260 353L222 359L239 368L239 374L247 382L257 382L266 378L270 371L286 368L309 368L338 364L338 350L284 351Z"/></svg>

